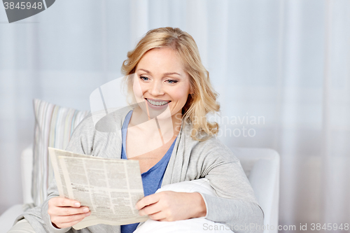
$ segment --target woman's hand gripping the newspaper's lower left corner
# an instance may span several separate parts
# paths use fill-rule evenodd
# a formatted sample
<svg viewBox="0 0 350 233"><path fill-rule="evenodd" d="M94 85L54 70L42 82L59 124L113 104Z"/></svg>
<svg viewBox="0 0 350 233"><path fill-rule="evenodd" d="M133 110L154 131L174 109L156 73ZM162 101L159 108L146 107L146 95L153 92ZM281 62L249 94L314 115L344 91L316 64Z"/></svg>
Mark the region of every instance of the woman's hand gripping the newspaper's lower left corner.
<svg viewBox="0 0 350 233"><path fill-rule="evenodd" d="M91 212L87 206L80 206L80 203L63 197L52 197L48 201L48 214L51 223L56 228L65 228L76 225Z"/></svg>

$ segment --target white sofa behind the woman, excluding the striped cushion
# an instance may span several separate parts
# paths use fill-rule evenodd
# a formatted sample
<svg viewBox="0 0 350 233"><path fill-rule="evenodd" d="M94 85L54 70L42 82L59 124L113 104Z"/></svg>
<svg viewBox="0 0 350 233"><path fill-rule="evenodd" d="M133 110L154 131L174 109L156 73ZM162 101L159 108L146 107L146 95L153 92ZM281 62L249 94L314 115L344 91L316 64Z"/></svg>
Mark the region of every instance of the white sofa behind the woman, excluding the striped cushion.
<svg viewBox="0 0 350 233"><path fill-rule="evenodd" d="M267 148L231 148L241 161L255 196L265 213L264 233L278 232L279 216L279 154ZM21 155L23 203L32 203L31 172L33 150L29 146ZM0 233L6 233L12 227L17 216L22 213L22 204L10 207L0 216ZM274 228L274 230L272 230Z"/></svg>

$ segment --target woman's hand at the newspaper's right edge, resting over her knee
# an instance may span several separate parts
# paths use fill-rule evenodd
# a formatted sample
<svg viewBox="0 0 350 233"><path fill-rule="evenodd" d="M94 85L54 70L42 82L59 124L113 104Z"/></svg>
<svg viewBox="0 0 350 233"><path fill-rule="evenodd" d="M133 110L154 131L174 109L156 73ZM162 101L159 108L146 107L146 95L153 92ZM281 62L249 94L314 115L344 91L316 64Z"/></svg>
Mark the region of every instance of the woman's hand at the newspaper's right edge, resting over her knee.
<svg viewBox="0 0 350 233"><path fill-rule="evenodd" d="M163 191L146 196L136 204L140 216L153 220L176 221L207 215L202 195L198 192Z"/></svg>

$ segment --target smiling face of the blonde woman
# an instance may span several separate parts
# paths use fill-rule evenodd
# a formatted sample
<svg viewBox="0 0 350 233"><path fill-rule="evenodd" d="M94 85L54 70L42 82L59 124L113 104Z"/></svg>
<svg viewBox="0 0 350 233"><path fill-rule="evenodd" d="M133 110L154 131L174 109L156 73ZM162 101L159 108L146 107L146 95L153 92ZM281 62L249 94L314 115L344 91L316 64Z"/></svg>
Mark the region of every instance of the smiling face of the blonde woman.
<svg viewBox="0 0 350 233"><path fill-rule="evenodd" d="M148 115L154 117L165 110L171 115L181 113L190 94L190 80L174 50L149 50L137 64L135 73L134 94L137 102L146 101L143 110Z"/></svg>

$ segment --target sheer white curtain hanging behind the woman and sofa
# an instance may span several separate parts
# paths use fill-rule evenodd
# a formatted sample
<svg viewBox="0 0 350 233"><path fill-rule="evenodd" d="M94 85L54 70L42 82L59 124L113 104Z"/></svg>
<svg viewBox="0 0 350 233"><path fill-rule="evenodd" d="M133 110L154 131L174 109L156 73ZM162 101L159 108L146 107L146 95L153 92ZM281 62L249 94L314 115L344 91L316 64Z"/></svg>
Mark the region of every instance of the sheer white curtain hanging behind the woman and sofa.
<svg viewBox="0 0 350 233"><path fill-rule="evenodd" d="M12 24L0 7L0 22L0 213L21 202L31 99L88 109L139 38L170 26L197 42L221 140L281 155L279 224L350 223L349 1L60 0Z"/></svg>

